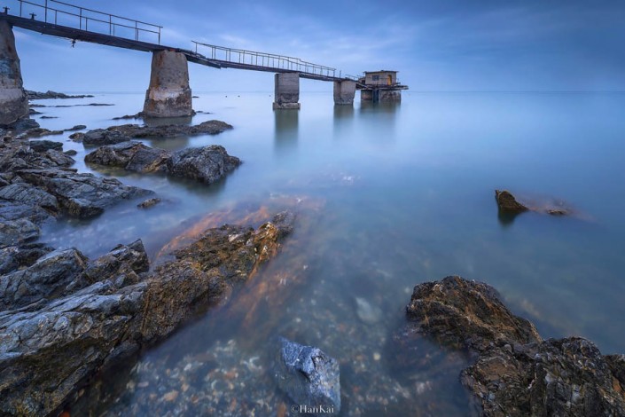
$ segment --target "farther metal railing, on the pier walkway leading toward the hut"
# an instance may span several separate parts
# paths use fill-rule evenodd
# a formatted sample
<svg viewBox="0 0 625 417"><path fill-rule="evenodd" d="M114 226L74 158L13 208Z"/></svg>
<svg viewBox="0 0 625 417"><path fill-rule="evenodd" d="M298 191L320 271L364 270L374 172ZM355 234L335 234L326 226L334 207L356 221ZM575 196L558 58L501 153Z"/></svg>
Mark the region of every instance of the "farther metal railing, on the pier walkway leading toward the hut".
<svg viewBox="0 0 625 417"><path fill-rule="evenodd" d="M271 69L283 69L309 75L319 75L322 77L335 77L336 69L316 65L311 62L301 60L299 58L286 57L273 53L246 51L234 48L226 48L224 46L211 45L208 43L195 43L195 53L206 57L207 59L215 59L234 64L250 65L254 67L265 67ZM199 47L207 48L207 53L200 53Z"/></svg>

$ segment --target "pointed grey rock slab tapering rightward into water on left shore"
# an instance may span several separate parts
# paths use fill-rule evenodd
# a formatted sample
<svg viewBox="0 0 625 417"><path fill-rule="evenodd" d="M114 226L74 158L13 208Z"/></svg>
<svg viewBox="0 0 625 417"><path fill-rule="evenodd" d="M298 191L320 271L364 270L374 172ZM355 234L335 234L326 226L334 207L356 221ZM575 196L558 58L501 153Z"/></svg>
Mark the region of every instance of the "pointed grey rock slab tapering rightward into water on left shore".
<svg viewBox="0 0 625 417"><path fill-rule="evenodd" d="M121 200L152 193L149 190L122 185L115 178L95 177L61 169L25 169L18 172L28 184L55 196L60 209L69 216L98 216L105 208Z"/></svg>

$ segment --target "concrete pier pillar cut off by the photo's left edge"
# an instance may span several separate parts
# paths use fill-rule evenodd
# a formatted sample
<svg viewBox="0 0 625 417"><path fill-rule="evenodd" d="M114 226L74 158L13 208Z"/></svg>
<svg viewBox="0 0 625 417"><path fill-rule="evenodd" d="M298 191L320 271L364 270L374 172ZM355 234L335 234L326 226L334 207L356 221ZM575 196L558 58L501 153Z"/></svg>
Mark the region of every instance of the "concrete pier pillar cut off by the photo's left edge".
<svg viewBox="0 0 625 417"><path fill-rule="evenodd" d="M28 98L21 79L15 36L6 20L0 20L0 125L28 117Z"/></svg>

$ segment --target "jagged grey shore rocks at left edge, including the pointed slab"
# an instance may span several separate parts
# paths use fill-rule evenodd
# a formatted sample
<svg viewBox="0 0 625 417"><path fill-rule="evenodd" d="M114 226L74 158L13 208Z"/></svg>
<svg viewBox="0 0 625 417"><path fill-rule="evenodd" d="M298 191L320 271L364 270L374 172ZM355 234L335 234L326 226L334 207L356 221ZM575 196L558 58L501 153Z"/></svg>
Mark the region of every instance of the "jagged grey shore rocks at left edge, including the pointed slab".
<svg viewBox="0 0 625 417"><path fill-rule="evenodd" d="M56 216L98 216L119 201L152 192L71 169L62 144L9 137L0 148L0 247L35 239ZM11 236L17 236L12 238Z"/></svg>

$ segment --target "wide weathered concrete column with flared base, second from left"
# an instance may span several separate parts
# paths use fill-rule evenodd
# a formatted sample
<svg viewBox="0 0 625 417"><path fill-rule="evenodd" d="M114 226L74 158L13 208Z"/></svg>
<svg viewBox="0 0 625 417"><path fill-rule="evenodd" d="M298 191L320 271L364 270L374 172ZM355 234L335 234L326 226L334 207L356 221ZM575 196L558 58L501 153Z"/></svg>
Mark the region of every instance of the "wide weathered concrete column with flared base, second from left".
<svg viewBox="0 0 625 417"><path fill-rule="evenodd" d="M189 66L182 52L152 52L150 87L145 93L148 117L181 117L193 114Z"/></svg>

